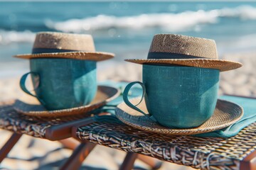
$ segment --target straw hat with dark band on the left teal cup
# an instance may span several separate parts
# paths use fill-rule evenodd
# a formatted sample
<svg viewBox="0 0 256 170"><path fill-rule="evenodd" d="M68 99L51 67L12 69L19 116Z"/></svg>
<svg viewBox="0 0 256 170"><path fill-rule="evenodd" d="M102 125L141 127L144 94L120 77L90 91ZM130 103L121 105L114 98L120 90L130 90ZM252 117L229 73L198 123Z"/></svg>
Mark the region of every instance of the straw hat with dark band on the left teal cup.
<svg viewBox="0 0 256 170"><path fill-rule="evenodd" d="M109 52L96 52L91 35L41 32L36 34L32 54L15 55L23 59L70 58L102 61L114 57Z"/></svg>

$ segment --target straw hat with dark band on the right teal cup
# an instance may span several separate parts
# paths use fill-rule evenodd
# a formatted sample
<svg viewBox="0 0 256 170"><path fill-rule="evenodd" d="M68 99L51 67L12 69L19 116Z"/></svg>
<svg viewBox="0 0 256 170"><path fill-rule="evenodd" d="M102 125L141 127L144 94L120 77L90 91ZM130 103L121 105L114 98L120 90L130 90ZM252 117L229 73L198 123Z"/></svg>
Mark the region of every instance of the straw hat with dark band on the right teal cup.
<svg viewBox="0 0 256 170"><path fill-rule="evenodd" d="M125 61L137 64L178 64L219 69L220 72L242 66L240 62L218 60L214 40L174 34L154 35L147 59Z"/></svg>

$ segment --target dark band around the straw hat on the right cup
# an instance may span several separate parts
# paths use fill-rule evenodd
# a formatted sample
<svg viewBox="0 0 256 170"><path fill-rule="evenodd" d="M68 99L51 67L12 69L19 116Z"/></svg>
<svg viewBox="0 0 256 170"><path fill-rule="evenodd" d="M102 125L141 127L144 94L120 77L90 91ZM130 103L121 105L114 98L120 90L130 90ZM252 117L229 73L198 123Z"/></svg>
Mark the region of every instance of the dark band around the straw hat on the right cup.
<svg viewBox="0 0 256 170"><path fill-rule="evenodd" d="M172 52L149 52L148 59L198 59L207 57L198 57L193 55L183 55Z"/></svg>

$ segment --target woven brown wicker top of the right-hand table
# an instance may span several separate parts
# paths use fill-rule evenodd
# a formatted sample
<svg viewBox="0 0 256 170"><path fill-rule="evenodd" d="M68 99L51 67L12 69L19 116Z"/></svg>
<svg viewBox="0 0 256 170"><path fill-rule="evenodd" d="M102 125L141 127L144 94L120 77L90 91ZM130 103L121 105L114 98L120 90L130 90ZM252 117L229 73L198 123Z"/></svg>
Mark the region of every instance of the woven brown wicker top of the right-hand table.
<svg viewBox="0 0 256 170"><path fill-rule="evenodd" d="M256 149L256 123L229 139L161 135L123 123L92 123L78 128L77 136L196 169L239 169L240 160Z"/></svg>

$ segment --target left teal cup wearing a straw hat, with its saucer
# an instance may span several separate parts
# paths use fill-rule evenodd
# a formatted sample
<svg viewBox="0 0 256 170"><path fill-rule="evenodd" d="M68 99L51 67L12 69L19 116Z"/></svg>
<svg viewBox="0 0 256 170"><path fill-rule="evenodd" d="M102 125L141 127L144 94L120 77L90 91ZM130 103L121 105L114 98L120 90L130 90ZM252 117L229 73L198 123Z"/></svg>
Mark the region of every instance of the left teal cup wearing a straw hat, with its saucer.
<svg viewBox="0 0 256 170"><path fill-rule="evenodd" d="M97 62L111 59L114 54L96 52L91 35L37 33L32 53L14 57L29 59L31 72L21 77L21 89L26 94L36 97L47 111L64 111L65 115L73 111L85 111L84 107L92 103L95 96L97 101L102 95L108 96L102 94L102 91L99 92L99 89L105 89L105 93L112 91L109 97L118 92L117 89L106 90L97 86ZM30 74L35 94L26 88L25 81ZM104 99L107 98L102 97L100 101ZM17 106L24 104L18 102ZM68 111L65 111L67 109ZM26 108L17 107L17 110L29 113ZM47 111L42 111L42 114L38 115L47 115Z"/></svg>

